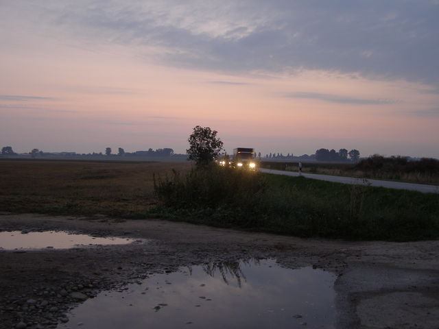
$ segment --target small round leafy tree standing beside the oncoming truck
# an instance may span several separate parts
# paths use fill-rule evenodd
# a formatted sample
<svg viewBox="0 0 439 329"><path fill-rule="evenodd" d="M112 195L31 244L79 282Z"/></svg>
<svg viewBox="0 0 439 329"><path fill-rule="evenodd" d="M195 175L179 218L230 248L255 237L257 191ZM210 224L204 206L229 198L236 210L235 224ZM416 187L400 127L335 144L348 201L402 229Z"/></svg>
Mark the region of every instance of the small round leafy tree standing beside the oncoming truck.
<svg viewBox="0 0 439 329"><path fill-rule="evenodd" d="M217 133L216 130L211 130L210 127L201 127L200 125L194 127L187 140L189 149L186 151L189 160L195 160L197 165L206 165L213 162L223 149L223 143L217 138Z"/></svg>

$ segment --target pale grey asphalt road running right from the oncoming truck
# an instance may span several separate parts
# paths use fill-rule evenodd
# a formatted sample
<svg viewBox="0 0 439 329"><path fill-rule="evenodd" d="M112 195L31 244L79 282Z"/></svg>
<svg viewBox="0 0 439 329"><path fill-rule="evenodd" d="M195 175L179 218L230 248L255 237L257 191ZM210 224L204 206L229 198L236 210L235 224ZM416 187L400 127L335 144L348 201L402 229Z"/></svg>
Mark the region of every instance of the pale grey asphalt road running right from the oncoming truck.
<svg viewBox="0 0 439 329"><path fill-rule="evenodd" d="M296 171L283 171L273 169L259 168L259 171L263 173L274 173L276 175L287 175L297 177L299 175ZM361 178L343 177L343 176L330 176L330 175L318 175L315 173L302 173L305 178L311 178L313 180L327 180L328 182L336 182L343 184L359 184L370 186L381 186L386 188L396 188L399 190L418 191L423 193L439 193L439 186L437 185L425 185L425 184L412 184L403 182L389 182L387 180L366 180Z"/></svg>

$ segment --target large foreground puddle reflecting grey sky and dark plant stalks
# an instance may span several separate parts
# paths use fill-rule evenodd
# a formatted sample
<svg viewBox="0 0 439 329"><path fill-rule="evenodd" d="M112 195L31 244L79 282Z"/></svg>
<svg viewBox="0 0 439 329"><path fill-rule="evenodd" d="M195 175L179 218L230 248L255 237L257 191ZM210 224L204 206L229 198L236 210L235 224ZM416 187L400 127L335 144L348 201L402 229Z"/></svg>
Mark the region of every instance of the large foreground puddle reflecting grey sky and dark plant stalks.
<svg viewBox="0 0 439 329"><path fill-rule="evenodd" d="M334 328L334 282L275 260L194 266L100 293L58 328Z"/></svg>

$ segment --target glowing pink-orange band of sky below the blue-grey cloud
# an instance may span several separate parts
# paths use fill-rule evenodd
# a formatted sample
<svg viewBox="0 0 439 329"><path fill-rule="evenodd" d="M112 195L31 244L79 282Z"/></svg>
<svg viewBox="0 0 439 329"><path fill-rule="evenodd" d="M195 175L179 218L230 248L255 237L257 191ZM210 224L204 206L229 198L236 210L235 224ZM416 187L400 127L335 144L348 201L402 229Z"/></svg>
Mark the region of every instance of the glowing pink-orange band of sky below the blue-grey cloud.
<svg viewBox="0 0 439 329"><path fill-rule="evenodd" d="M300 155L355 148L361 156L439 158L434 81L366 74L361 67L255 64L239 70L218 68L215 58L211 66L182 64L167 58L176 49L160 42L96 36L79 23L51 24L45 15L54 19L65 10L51 5L37 5L32 16L30 4L27 10L0 4L0 146L80 153L171 147L185 153L192 128L202 125L217 130L228 151L240 146ZM192 34L203 29L200 34L215 40L227 26L187 24Z"/></svg>

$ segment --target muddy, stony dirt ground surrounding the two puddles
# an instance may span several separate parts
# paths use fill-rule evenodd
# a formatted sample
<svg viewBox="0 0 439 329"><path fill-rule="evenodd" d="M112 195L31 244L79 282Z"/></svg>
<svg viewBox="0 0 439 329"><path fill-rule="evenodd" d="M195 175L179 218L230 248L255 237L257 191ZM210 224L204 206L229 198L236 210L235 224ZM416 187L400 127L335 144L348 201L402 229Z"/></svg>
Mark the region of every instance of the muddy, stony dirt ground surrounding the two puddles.
<svg viewBox="0 0 439 329"><path fill-rule="evenodd" d="M437 328L439 323L439 241L298 239L104 216L1 215L4 230L67 230L142 242L1 251L0 328L19 323L22 328L56 328L68 321L69 307L104 289L180 266L241 258L276 258L284 267L313 266L335 273L336 328Z"/></svg>

